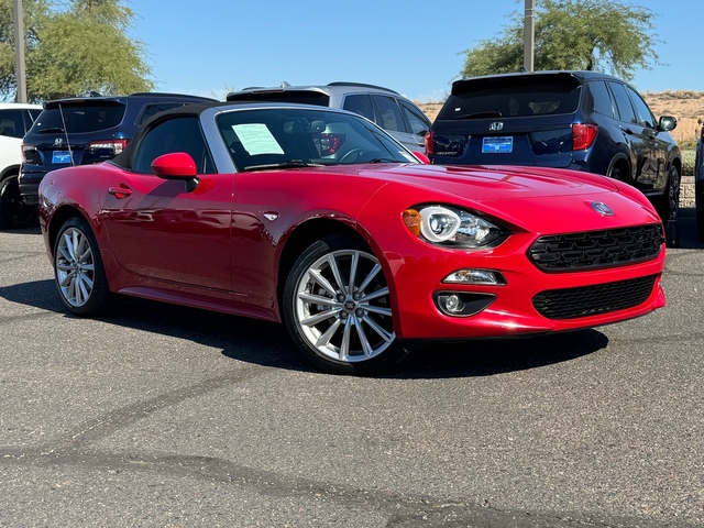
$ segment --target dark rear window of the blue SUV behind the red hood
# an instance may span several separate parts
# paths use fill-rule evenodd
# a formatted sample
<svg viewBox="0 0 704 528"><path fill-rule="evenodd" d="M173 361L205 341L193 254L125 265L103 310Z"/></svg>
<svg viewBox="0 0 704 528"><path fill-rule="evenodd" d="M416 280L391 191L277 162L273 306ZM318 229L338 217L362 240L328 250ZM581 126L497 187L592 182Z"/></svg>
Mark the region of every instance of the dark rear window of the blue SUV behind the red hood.
<svg viewBox="0 0 704 528"><path fill-rule="evenodd" d="M561 81L516 77L457 81L438 114L439 120L556 116L573 113L580 103L582 86Z"/></svg>

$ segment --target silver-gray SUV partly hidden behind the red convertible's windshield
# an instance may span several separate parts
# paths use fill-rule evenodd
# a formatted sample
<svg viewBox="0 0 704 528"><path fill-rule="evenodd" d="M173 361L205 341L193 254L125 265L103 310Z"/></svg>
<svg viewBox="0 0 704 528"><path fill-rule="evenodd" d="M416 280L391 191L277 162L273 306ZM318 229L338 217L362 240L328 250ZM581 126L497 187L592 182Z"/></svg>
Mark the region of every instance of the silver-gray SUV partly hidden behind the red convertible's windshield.
<svg viewBox="0 0 704 528"><path fill-rule="evenodd" d="M430 128L428 117L400 94L381 86L361 82L330 82L324 86L245 88L228 94L228 101L299 102L341 108L375 122L409 151L425 148Z"/></svg>

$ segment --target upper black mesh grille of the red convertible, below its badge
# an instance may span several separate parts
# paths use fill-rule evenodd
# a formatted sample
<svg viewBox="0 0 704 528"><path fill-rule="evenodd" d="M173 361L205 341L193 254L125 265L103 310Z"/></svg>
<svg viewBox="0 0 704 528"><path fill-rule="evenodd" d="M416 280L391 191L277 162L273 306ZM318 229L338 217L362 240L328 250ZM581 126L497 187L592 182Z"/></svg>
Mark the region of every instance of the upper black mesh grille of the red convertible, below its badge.
<svg viewBox="0 0 704 528"><path fill-rule="evenodd" d="M581 272L656 258L662 251L662 226L540 237L528 256L543 272Z"/></svg>

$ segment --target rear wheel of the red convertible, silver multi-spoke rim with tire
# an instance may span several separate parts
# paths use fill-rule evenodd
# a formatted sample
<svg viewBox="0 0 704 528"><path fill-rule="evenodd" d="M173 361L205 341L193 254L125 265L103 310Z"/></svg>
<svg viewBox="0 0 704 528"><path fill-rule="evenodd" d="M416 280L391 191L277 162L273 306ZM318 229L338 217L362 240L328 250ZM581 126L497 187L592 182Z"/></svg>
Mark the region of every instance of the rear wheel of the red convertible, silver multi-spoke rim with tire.
<svg viewBox="0 0 704 528"><path fill-rule="evenodd" d="M58 231L54 276L62 301L78 316L99 316L114 305L98 242L82 218L69 218Z"/></svg>

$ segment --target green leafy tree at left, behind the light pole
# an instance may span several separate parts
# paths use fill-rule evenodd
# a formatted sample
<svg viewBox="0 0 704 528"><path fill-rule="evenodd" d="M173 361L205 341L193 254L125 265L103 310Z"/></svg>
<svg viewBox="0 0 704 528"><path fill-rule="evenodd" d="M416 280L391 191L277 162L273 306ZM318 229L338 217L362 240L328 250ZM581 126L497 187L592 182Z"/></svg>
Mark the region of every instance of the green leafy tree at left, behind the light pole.
<svg viewBox="0 0 704 528"><path fill-rule="evenodd" d="M0 0L0 96L14 96L12 0ZM129 36L133 11L122 0L24 0L30 101L154 89L144 44ZM6 15L7 13L7 15Z"/></svg>

